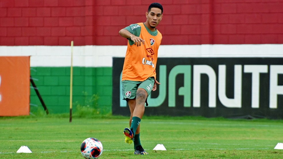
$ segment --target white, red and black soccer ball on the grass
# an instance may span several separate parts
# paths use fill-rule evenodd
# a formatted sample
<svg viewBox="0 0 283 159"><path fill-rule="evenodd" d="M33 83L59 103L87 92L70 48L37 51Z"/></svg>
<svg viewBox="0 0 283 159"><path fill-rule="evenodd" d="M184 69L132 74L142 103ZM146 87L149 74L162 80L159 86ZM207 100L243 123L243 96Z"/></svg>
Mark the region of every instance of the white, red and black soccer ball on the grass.
<svg viewBox="0 0 283 159"><path fill-rule="evenodd" d="M84 158L95 159L102 154L102 144L98 139L93 137L87 138L81 144L81 153Z"/></svg>

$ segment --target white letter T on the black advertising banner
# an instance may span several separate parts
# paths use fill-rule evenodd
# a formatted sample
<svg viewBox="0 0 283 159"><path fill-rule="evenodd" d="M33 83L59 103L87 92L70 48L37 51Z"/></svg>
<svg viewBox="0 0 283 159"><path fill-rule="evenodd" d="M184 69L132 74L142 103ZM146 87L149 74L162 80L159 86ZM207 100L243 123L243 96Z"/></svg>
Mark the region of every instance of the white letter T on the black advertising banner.
<svg viewBox="0 0 283 159"><path fill-rule="evenodd" d="M268 73L268 65L244 65L245 73L252 73L252 108L259 108L259 74Z"/></svg>

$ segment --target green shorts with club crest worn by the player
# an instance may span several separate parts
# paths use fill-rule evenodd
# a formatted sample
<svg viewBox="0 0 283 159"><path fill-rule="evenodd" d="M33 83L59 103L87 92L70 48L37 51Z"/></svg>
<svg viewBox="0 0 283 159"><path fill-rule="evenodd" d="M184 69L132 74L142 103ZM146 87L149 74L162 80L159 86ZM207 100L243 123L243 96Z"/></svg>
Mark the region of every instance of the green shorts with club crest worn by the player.
<svg viewBox="0 0 283 159"><path fill-rule="evenodd" d="M138 88L143 88L144 90L146 90L149 96L152 87L154 85L154 82L155 80L153 77L149 77L145 81L128 81L128 80L122 81L123 100L134 99L136 97Z"/></svg>

